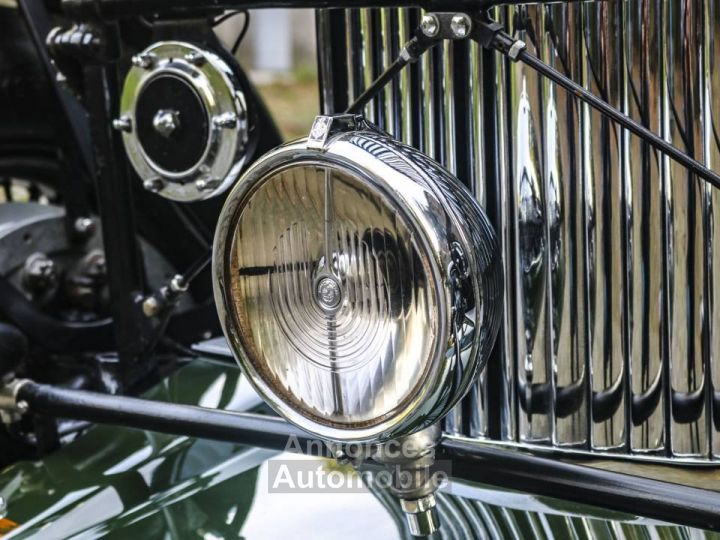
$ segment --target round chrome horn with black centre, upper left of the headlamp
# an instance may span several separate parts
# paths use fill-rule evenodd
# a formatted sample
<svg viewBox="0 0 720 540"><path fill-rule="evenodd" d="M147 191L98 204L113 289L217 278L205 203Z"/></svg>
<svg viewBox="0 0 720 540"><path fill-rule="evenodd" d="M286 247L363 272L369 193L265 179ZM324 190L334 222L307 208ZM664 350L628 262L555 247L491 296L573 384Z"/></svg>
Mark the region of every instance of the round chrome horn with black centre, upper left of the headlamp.
<svg viewBox="0 0 720 540"><path fill-rule="evenodd" d="M245 162L245 97L212 51L158 42L132 59L113 123L146 189L176 201L225 191Z"/></svg>

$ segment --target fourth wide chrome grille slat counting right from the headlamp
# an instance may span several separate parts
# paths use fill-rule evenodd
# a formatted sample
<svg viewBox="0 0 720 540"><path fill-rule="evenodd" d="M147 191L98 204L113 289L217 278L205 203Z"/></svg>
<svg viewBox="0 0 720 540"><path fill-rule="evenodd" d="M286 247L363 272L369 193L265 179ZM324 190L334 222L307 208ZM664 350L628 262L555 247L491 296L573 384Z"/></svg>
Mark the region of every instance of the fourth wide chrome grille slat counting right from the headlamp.
<svg viewBox="0 0 720 540"><path fill-rule="evenodd" d="M625 93L627 112L661 132L661 69L657 2L625 4ZM657 21L647 24L648 21ZM627 179L627 275L631 358L631 447L664 449L662 408L662 176L659 156L647 143L625 134Z"/></svg>

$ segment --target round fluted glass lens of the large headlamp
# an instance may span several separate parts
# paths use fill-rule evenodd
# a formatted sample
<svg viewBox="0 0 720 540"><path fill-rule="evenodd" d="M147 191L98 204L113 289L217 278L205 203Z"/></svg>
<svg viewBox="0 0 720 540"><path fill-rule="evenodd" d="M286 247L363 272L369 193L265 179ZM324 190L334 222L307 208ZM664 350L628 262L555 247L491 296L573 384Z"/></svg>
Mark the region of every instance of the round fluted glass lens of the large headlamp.
<svg viewBox="0 0 720 540"><path fill-rule="evenodd" d="M292 166L258 182L235 230L230 275L243 350L314 421L372 426L417 396L437 340L419 239L350 174Z"/></svg>

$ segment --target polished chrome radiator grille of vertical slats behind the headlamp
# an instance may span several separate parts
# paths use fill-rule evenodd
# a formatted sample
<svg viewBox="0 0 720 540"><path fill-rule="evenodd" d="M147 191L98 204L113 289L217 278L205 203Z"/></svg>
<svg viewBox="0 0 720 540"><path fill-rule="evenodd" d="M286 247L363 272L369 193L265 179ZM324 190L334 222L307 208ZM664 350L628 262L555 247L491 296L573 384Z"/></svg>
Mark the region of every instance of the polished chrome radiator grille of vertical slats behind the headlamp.
<svg viewBox="0 0 720 540"><path fill-rule="evenodd" d="M321 55L326 112L359 95L419 15L319 12L321 40L346 36ZM716 2L534 4L495 16L530 52L720 167ZM465 181L502 242L496 357L448 432L573 455L720 458L720 193L470 42L430 51L366 114Z"/></svg>

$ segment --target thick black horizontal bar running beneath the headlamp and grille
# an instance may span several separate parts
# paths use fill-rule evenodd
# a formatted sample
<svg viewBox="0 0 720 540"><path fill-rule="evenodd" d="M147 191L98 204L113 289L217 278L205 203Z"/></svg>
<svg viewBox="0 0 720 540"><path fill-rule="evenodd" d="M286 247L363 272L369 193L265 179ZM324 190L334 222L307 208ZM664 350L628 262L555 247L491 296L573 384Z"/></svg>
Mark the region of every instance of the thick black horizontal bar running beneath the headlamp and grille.
<svg viewBox="0 0 720 540"><path fill-rule="evenodd" d="M20 387L17 400L27 402L31 412L55 417L280 451L324 452L316 438L272 416L110 396L33 382ZM438 458L452 460L452 473L458 478L691 527L720 530L720 493L716 491L593 469L457 439L444 439Z"/></svg>

